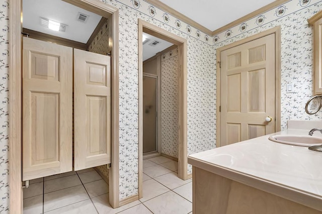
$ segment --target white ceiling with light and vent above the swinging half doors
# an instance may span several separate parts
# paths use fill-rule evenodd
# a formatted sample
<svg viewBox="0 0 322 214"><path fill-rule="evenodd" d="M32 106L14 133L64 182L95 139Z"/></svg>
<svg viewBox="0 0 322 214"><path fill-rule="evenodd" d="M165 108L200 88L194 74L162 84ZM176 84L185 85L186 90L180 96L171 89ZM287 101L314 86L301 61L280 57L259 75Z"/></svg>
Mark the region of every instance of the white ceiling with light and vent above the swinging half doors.
<svg viewBox="0 0 322 214"><path fill-rule="evenodd" d="M89 15L85 23L77 20L78 12ZM53 31L43 27L40 17L67 25L66 31ZM76 42L86 44L101 19L101 16L61 0L23 0L23 28Z"/></svg>

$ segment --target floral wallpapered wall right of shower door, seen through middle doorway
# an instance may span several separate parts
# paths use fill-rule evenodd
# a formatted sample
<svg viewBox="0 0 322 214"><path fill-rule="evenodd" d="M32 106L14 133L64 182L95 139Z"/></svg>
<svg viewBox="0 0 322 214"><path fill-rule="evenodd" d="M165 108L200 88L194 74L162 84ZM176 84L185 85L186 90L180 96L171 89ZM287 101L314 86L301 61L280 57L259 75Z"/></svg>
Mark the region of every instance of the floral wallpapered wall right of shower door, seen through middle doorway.
<svg viewBox="0 0 322 214"><path fill-rule="evenodd" d="M178 49L161 56L161 152L178 158Z"/></svg>

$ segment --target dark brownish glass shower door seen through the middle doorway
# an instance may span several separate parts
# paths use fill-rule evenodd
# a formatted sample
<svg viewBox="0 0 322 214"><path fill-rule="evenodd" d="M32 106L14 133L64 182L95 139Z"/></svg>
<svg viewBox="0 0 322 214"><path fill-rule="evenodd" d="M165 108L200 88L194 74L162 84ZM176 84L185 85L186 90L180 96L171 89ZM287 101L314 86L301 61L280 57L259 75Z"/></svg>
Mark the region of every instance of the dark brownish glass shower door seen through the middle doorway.
<svg viewBox="0 0 322 214"><path fill-rule="evenodd" d="M143 154L157 152L157 77L143 74Z"/></svg>

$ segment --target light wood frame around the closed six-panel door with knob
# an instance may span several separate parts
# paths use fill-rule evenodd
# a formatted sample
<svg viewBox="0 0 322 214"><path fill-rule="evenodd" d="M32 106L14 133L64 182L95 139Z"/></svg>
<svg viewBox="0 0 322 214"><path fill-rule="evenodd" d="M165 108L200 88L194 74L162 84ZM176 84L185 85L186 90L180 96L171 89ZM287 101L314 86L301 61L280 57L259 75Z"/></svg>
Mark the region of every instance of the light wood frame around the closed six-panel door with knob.
<svg viewBox="0 0 322 214"><path fill-rule="evenodd" d="M236 41L234 43L228 44L226 46L220 47L216 50L217 53L217 92L216 92L216 147L220 147L220 123L221 123L221 115L220 115L220 60L221 60L221 51L227 50L229 48L236 47L241 44L245 44L247 42L268 36L270 34L275 34L275 132L279 132L281 130L281 26L274 27L267 31L258 33L256 35L247 37L243 40Z"/></svg>

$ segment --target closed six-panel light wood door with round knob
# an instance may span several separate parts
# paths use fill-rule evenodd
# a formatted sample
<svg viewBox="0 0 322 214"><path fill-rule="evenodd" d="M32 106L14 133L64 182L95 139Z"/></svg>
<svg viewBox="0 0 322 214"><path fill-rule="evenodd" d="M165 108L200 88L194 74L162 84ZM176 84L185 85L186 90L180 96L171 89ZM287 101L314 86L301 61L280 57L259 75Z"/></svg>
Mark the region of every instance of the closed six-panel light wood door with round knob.
<svg viewBox="0 0 322 214"><path fill-rule="evenodd" d="M274 34L222 51L220 73L221 146L274 133Z"/></svg>

